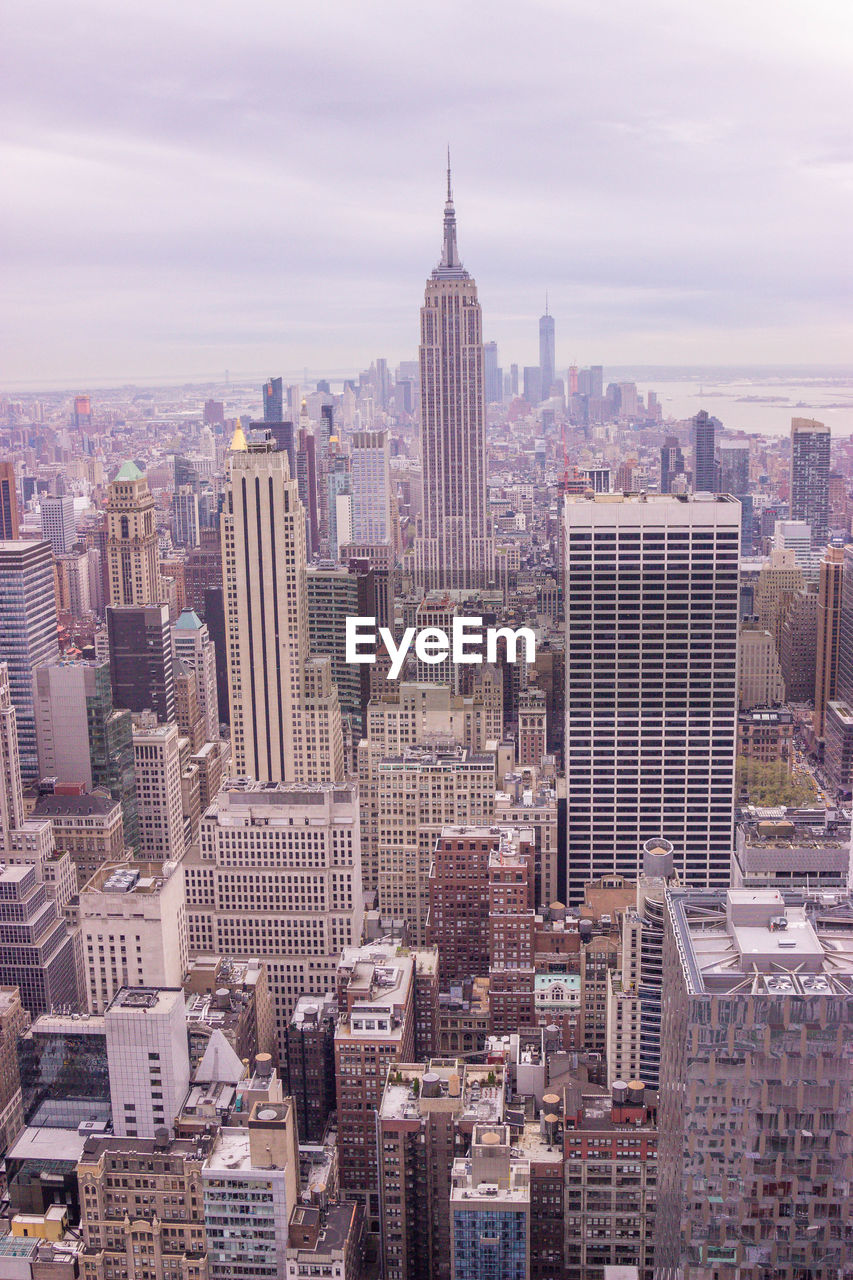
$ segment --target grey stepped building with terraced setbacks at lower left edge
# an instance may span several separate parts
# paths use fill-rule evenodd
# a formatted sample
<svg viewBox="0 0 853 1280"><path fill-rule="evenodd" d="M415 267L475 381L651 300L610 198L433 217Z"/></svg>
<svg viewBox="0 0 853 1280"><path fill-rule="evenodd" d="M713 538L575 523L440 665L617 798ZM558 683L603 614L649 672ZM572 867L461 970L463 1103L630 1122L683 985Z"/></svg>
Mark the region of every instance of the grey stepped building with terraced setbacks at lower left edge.
<svg viewBox="0 0 853 1280"><path fill-rule="evenodd" d="M32 1018L65 1006L77 1010L74 937L36 867L0 872L0 986L18 987Z"/></svg>

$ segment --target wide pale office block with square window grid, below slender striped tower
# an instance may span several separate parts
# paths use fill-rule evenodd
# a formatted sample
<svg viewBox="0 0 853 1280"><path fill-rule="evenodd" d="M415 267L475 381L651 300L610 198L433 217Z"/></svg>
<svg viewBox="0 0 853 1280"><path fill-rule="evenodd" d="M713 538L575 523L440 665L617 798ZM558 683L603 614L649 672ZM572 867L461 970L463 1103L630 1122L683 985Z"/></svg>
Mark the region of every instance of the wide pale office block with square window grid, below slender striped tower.
<svg viewBox="0 0 853 1280"><path fill-rule="evenodd" d="M361 938L357 791L220 791L184 878L191 954L264 959L283 1056L296 1001L329 991L342 947Z"/></svg>

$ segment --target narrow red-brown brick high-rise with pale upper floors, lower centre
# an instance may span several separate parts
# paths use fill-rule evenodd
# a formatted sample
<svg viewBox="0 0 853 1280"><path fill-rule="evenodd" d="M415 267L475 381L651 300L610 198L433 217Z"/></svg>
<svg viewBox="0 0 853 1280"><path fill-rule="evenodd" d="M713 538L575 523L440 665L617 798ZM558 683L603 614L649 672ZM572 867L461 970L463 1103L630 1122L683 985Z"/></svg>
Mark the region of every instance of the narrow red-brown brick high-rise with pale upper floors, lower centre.
<svg viewBox="0 0 853 1280"><path fill-rule="evenodd" d="M396 942L347 947L337 974L334 1078L341 1187L378 1225L377 1117L388 1069L415 1048L415 957Z"/></svg>

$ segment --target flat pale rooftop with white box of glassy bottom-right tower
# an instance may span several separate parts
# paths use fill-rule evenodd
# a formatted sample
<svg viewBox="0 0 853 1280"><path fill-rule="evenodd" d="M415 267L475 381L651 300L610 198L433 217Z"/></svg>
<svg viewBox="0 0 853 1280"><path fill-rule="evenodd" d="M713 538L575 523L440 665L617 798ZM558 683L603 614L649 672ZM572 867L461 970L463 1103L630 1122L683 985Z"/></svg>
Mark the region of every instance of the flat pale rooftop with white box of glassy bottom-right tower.
<svg viewBox="0 0 853 1280"><path fill-rule="evenodd" d="M777 888L667 892L688 991L853 995L853 901Z"/></svg>

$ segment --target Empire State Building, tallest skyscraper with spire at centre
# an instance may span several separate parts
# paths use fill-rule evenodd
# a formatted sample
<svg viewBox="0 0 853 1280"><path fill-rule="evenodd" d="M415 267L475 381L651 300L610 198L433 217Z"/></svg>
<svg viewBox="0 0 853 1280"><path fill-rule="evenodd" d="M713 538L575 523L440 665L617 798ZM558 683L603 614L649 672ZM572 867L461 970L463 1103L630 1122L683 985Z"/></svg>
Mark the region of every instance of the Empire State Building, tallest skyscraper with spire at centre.
<svg viewBox="0 0 853 1280"><path fill-rule="evenodd" d="M423 535L415 544L418 585L484 588L494 580L485 489L483 317L476 284L456 247L447 169L442 259L420 311Z"/></svg>

